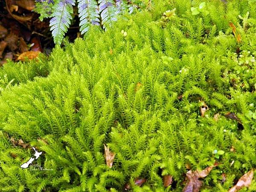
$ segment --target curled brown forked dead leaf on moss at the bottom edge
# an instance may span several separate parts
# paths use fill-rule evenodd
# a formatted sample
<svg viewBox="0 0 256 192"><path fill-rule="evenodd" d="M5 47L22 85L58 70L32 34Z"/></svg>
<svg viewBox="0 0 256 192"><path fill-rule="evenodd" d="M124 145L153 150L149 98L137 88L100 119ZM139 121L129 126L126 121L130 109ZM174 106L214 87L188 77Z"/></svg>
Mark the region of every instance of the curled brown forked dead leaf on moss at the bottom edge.
<svg viewBox="0 0 256 192"><path fill-rule="evenodd" d="M213 167L218 166L218 163L215 163L214 166L209 166L202 171L196 170L192 172L189 170L186 173L188 179L186 186L183 188L183 192L199 192L199 189L202 186L202 181L198 180L199 178L204 178L212 171Z"/></svg>

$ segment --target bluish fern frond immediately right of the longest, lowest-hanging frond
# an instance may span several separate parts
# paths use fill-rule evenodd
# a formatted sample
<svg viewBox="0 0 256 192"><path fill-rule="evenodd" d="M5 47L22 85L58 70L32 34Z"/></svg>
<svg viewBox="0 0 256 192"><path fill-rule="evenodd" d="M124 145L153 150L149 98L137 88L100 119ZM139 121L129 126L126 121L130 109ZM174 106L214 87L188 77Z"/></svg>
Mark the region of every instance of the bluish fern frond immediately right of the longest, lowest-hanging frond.
<svg viewBox="0 0 256 192"><path fill-rule="evenodd" d="M99 7L96 0L78 0L78 12L81 34L89 30L90 24L99 25Z"/></svg>

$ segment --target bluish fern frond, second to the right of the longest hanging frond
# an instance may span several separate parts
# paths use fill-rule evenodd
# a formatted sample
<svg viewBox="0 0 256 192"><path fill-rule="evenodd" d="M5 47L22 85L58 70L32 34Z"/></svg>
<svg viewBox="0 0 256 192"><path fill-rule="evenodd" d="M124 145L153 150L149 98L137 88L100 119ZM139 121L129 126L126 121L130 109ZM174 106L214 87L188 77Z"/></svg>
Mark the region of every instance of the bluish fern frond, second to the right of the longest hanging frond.
<svg viewBox="0 0 256 192"><path fill-rule="evenodd" d="M103 29L112 25L116 18L116 7L113 0L99 0L99 12L101 12Z"/></svg>

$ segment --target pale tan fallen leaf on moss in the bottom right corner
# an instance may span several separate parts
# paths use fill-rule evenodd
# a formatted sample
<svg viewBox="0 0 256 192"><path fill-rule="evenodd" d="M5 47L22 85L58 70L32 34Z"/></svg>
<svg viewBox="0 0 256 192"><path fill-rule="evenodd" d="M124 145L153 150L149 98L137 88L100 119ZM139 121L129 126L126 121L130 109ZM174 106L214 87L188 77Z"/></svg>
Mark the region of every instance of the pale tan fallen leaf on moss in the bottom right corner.
<svg viewBox="0 0 256 192"><path fill-rule="evenodd" d="M228 192L237 192L244 187L249 187L253 180L253 169L244 174Z"/></svg>

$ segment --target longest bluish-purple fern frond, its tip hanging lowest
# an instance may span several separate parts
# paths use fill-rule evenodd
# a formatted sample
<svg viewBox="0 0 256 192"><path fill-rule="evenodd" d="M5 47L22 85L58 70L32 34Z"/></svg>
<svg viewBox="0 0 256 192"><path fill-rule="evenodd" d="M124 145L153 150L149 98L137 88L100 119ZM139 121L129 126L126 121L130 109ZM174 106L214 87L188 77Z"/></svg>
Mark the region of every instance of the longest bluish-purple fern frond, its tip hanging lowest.
<svg viewBox="0 0 256 192"><path fill-rule="evenodd" d="M50 27L55 44L61 44L61 41L70 26L71 14L75 0L60 0L55 4L50 20Z"/></svg>

